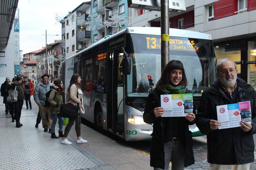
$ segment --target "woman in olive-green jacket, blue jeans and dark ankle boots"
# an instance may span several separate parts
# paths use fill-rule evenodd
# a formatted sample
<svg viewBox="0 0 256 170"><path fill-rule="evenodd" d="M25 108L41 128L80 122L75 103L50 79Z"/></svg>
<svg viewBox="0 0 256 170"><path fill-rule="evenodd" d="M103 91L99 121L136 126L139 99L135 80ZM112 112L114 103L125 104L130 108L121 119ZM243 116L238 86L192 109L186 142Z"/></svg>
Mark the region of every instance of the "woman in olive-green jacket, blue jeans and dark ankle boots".
<svg viewBox="0 0 256 170"><path fill-rule="evenodd" d="M65 93L65 89L63 87L63 82L61 80L54 80L53 88L50 90L50 95L48 102L50 103L50 113L52 114L52 131L51 138L59 138L63 137L63 121L64 118L60 117L60 106L63 104L63 94ZM57 119L59 119L59 137L55 135L55 125L57 123Z"/></svg>

